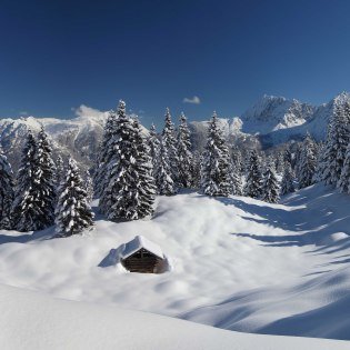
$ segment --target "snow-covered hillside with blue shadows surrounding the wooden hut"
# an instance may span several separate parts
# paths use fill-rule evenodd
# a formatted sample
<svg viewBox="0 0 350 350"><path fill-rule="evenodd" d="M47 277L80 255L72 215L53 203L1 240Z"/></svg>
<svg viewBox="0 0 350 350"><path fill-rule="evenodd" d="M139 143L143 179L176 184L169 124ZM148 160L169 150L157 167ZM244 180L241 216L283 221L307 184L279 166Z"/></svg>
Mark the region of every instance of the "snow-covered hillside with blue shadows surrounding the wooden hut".
<svg viewBox="0 0 350 350"><path fill-rule="evenodd" d="M0 282L231 330L350 340L350 199L313 186L268 204L196 192L159 197L154 218L97 216L83 236L0 232ZM142 234L170 258L127 273L112 249Z"/></svg>

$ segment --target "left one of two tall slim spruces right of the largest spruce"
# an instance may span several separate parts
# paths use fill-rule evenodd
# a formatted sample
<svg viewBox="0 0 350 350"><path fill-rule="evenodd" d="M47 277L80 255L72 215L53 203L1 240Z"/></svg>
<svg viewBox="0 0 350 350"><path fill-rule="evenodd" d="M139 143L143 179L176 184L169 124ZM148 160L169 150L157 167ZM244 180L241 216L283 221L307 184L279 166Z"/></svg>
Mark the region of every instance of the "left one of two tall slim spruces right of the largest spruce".
<svg viewBox="0 0 350 350"><path fill-rule="evenodd" d="M166 110L166 123L164 123L164 129L162 131L162 140L164 143L164 147L167 148L172 180L176 183L178 183L179 158L178 158L178 150L177 150L177 140L174 137L174 126L171 121L171 114L170 114L169 108L167 108Z"/></svg>

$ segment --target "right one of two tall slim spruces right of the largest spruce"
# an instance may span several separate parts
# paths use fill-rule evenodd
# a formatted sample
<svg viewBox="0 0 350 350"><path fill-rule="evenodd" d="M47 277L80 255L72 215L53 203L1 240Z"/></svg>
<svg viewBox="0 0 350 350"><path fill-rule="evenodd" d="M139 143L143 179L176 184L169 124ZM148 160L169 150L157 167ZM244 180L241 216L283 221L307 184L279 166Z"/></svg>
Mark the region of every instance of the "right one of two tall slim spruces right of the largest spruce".
<svg viewBox="0 0 350 350"><path fill-rule="evenodd" d="M178 132L178 182L183 188L190 188L193 179L193 159L191 152L190 130L187 124L187 118L183 112L180 116L180 126Z"/></svg>

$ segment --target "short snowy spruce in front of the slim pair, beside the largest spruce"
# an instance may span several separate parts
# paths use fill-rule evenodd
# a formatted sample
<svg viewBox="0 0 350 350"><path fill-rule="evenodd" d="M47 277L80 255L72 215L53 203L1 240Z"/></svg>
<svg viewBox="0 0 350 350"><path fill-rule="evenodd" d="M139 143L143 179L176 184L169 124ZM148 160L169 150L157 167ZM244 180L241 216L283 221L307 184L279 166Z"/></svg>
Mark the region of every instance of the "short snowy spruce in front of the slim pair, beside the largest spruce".
<svg viewBox="0 0 350 350"><path fill-rule="evenodd" d="M160 140L159 157L156 171L156 186L159 194L172 196L178 189L172 180L172 173L169 166L168 149L164 144L163 138Z"/></svg>

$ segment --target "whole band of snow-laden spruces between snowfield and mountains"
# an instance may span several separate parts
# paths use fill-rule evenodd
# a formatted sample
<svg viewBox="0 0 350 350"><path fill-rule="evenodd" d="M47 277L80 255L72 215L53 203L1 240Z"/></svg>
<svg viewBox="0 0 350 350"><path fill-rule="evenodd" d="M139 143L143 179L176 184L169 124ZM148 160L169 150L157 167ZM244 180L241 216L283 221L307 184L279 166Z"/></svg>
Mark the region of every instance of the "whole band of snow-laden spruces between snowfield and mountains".
<svg viewBox="0 0 350 350"><path fill-rule="evenodd" d="M271 203L319 181L350 192L349 126L350 106L339 103L324 143L307 134L301 142L262 151L230 143L214 112L199 152L183 113L176 128L167 109L161 132L152 126L146 136L120 101L109 112L93 180L72 159L68 166L61 156L53 161L43 128L37 136L28 132L16 178L0 149L0 228L31 231L56 222L60 236L74 234L92 226L93 197L109 220L120 221L150 217L156 194L173 196L180 189Z"/></svg>

